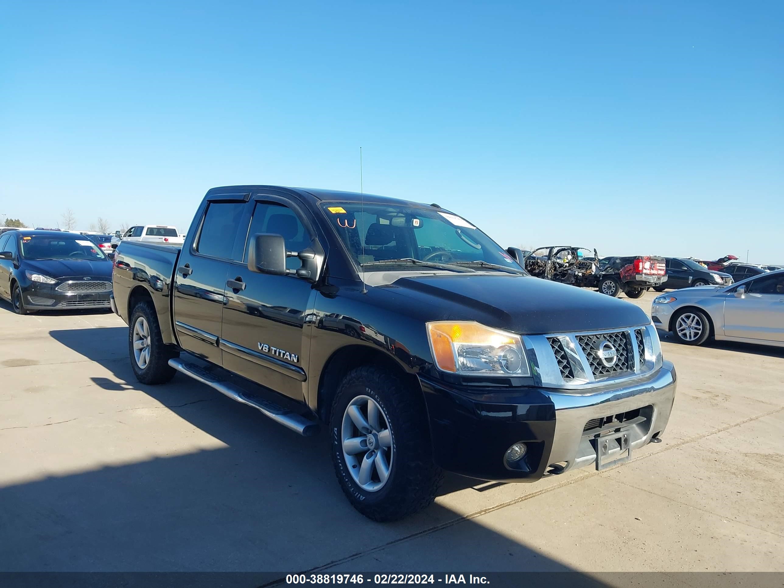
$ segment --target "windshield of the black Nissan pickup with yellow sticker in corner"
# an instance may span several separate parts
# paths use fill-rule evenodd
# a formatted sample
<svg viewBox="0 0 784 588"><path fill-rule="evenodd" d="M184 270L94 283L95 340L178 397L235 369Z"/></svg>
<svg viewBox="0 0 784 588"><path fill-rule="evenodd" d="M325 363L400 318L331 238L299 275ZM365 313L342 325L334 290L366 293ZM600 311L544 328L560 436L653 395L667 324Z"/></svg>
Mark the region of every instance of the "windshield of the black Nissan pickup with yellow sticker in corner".
<svg viewBox="0 0 784 588"><path fill-rule="evenodd" d="M444 210L405 205L327 202L322 205L355 263L415 260L452 265L520 267L481 230Z"/></svg>

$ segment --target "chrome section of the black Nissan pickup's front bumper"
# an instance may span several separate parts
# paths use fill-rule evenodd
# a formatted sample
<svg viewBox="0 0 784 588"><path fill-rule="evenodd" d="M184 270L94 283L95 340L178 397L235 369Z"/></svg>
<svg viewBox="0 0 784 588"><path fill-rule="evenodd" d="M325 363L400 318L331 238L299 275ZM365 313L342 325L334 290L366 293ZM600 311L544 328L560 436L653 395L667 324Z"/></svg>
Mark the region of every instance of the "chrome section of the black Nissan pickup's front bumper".
<svg viewBox="0 0 784 588"><path fill-rule="evenodd" d="M647 445L653 437L661 436L670 420L675 388L675 368L670 361L664 361L651 378L630 382L615 390L600 390L593 394L550 393L556 417L549 463L561 464L561 471L594 464L601 470L623 463L636 449ZM596 429L593 432L585 430L586 423L593 419L637 408L646 418L633 419L628 424L614 423L605 427L602 433Z"/></svg>

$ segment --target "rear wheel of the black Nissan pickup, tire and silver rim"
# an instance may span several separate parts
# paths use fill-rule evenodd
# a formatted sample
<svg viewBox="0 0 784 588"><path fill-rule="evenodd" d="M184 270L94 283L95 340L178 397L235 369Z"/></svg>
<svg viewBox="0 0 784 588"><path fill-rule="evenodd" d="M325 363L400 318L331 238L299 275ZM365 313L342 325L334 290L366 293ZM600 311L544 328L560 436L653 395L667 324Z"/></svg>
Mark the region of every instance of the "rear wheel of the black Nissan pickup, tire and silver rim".
<svg viewBox="0 0 784 588"><path fill-rule="evenodd" d="M177 351L163 343L158 314L151 302L136 304L131 313L128 332L128 350L133 373L143 384L163 384L174 377L176 370L169 359L176 358Z"/></svg>

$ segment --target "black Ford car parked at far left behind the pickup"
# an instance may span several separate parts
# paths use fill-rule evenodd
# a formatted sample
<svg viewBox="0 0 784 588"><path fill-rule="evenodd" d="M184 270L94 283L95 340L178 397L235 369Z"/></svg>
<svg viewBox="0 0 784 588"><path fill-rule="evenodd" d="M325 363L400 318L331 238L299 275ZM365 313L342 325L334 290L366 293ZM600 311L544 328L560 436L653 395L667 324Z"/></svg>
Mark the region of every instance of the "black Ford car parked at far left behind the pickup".
<svg viewBox="0 0 784 588"><path fill-rule="evenodd" d="M112 263L84 235L13 230L0 235L0 297L18 314L109 308Z"/></svg>

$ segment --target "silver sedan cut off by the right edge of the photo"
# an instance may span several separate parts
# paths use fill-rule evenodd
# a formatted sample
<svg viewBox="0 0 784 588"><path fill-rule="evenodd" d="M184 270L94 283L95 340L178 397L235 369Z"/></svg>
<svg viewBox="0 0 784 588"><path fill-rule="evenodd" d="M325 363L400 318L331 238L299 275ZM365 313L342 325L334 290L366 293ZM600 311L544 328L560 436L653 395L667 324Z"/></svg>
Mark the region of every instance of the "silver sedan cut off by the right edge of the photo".
<svg viewBox="0 0 784 588"><path fill-rule="evenodd" d="M688 345L716 339L784 347L784 270L730 286L684 288L657 296L653 324Z"/></svg>

